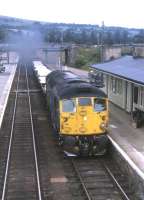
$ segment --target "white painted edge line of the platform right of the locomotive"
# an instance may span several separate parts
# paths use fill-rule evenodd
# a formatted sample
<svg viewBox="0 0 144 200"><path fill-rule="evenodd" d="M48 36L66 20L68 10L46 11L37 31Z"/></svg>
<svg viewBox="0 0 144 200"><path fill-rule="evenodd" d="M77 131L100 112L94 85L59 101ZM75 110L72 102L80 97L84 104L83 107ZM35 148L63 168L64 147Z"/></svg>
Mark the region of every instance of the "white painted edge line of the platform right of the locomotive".
<svg viewBox="0 0 144 200"><path fill-rule="evenodd" d="M126 154L126 152L108 135L108 138L114 144L116 149L125 158L125 160L130 164L130 166L137 172L137 174L144 180L144 172L138 168L138 166L131 160L131 158ZM141 155L142 156L142 155ZM143 157L144 159L144 157Z"/></svg>

